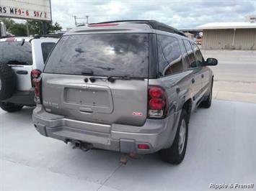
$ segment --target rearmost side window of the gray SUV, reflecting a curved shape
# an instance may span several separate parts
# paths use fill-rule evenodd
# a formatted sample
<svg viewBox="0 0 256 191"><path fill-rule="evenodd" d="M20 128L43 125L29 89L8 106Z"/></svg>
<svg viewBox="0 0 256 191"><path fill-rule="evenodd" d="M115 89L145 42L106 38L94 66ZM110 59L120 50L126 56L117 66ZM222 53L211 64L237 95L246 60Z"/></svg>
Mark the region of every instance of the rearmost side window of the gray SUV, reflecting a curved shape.
<svg viewBox="0 0 256 191"><path fill-rule="evenodd" d="M178 39L157 35L157 49L160 76L182 72L182 52Z"/></svg>

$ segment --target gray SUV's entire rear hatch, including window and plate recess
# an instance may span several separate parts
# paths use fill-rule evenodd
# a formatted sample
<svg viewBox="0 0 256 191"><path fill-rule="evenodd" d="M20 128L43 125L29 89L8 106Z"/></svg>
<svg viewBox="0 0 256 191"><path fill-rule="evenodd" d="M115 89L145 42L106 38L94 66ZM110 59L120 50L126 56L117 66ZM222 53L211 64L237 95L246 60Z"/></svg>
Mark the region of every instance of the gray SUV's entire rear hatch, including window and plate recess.
<svg viewBox="0 0 256 191"><path fill-rule="evenodd" d="M100 124L141 126L147 116L149 34L64 36L45 65L45 110Z"/></svg>

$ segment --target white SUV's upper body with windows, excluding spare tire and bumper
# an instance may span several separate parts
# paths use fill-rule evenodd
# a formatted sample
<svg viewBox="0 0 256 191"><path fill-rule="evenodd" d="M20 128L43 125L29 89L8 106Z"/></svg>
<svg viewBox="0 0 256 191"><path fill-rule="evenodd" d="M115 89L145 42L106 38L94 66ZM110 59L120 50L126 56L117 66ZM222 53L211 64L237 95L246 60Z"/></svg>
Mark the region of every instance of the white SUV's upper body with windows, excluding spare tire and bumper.
<svg viewBox="0 0 256 191"><path fill-rule="evenodd" d="M10 37L0 42L0 63L6 63L14 70L17 90L32 88L31 71L43 70L44 62L57 41L55 38L43 38L29 42L21 37Z"/></svg>

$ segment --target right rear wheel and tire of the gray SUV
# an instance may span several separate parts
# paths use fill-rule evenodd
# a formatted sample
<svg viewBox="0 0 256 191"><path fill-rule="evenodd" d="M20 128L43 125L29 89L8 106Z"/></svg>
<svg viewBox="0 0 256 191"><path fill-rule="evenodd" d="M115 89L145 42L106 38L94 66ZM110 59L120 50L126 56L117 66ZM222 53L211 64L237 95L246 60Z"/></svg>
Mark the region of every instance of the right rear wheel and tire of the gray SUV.
<svg viewBox="0 0 256 191"><path fill-rule="evenodd" d="M182 109L179 126L175 135L175 141L168 149L162 149L159 152L160 158L164 162L180 164L184 159L187 147L188 118L187 111Z"/></svg>

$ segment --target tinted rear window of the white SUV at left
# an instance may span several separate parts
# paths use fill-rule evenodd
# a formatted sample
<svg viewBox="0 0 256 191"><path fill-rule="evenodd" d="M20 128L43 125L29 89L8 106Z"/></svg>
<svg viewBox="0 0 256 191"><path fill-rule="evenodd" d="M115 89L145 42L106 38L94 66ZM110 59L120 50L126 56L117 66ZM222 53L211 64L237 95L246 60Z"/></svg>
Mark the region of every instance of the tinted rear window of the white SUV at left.
<svg viewBox="0 0 256 191"><path fill-rule="evenodd" d="M30 42L0 42L0 63L9 65L32 65Z"/></svg>

